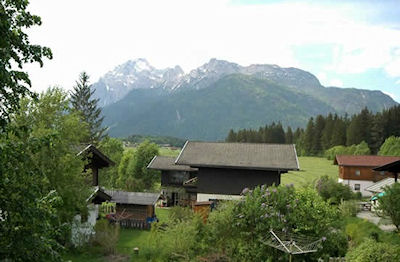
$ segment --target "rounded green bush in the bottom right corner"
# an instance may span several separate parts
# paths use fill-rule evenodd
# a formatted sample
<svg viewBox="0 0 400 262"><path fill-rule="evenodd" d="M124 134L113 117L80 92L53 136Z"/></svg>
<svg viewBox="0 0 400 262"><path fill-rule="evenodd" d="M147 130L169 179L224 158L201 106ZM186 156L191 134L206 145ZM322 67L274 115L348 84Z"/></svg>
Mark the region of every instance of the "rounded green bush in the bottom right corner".
<svg viewBox="0 0 400 262"><path fill-rule="evenodd" d="M400 249L398 246L388 243L379 243L372 239L366 239L357 248L350 250L346 255L349 262L393 262L400 261Z"/></svg>

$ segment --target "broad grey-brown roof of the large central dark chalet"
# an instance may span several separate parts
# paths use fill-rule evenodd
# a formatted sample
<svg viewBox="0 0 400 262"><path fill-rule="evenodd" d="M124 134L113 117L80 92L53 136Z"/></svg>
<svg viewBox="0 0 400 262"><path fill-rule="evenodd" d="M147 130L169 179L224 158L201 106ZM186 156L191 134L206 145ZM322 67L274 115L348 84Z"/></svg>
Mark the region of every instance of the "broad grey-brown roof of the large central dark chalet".
<svg viewBox="0 0 400 262"><path fill-rule="evenodd" d="M175 161L192 167L299 170L294 145L187 141Z"/></svg>

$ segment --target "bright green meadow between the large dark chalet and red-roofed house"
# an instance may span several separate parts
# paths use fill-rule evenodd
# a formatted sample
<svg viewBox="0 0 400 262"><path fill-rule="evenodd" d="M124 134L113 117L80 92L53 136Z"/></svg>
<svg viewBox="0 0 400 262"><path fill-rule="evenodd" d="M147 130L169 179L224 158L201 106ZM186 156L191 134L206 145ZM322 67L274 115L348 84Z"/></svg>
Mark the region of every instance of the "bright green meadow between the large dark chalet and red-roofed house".
<svg viewBox="0 0 400 262"><path fill-rule="evenodd" d="M338 178L338 166L333 165L332 160L321 157L299 157L300 171L290 171L283 174L281 183L306 186L313 183L320 176L328 175Z"/></svg>

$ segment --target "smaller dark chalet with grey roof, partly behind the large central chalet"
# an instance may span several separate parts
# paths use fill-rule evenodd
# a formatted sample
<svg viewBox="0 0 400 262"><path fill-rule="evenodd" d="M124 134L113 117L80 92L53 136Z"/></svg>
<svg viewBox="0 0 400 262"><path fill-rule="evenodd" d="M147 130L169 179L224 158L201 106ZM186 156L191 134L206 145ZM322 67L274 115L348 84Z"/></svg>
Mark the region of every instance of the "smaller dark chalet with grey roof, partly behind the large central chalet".
<svg viewBox="0 0 400 262"><path fill-rule="evenodd" d="M166 206L191 206L196 192L191 192L187 181L195 179L197 168L175 165L175 157L155 156L148 169L161 171L162 198Z"/></svg>

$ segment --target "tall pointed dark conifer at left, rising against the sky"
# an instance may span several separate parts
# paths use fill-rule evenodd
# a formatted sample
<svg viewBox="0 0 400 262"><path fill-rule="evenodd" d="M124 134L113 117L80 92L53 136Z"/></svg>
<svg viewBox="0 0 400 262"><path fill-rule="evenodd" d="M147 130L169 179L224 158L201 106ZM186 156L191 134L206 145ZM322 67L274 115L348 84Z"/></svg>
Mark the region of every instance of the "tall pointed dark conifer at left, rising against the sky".
<svg viewBox="0 0 400 262"><path fill-rule="evenodd" d="M92 85L89 84L89 75L82 72L71 92L71 104L89 125L89 136L83 142L97 145L104 138L107 128L102 127L104 117L101 116L101 109L97 106L99 99L93 98L94 92Z"/></svg>

